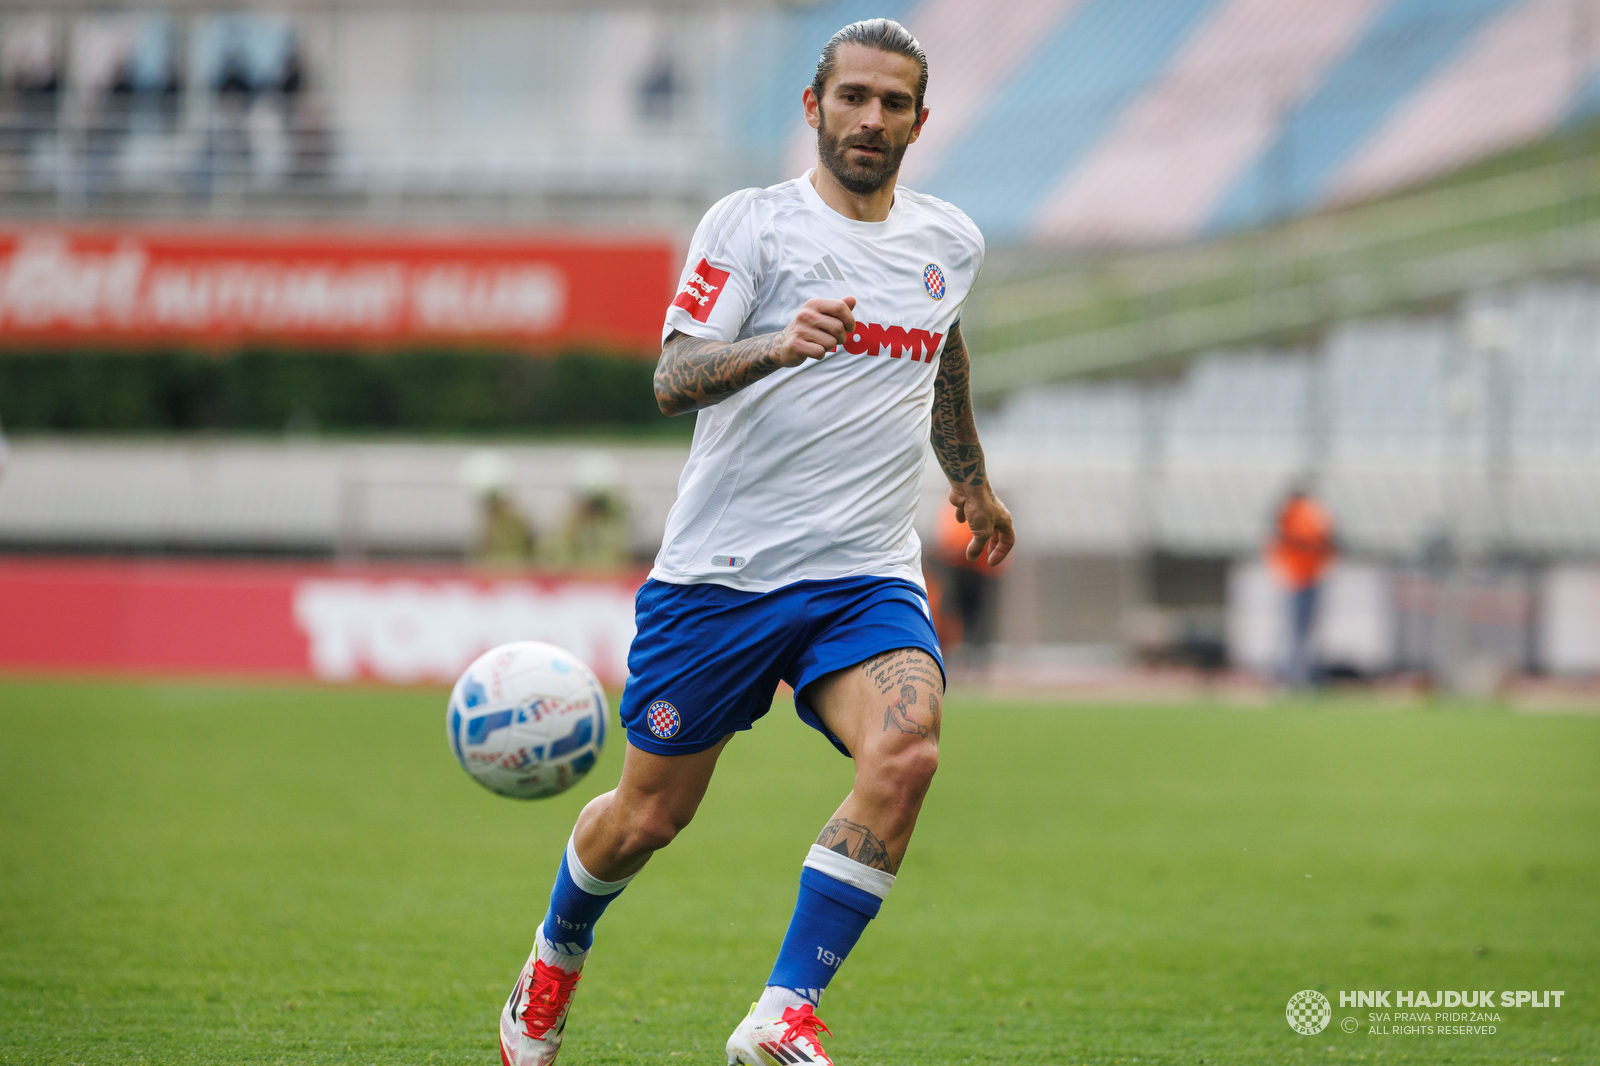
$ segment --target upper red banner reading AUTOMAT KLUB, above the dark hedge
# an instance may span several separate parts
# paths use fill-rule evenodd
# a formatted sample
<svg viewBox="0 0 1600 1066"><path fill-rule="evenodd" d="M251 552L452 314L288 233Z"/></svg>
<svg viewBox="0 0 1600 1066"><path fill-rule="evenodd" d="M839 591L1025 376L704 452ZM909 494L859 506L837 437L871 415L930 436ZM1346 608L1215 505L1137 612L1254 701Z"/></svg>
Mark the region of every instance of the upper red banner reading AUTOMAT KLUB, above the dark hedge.
<svg viewBox="0 0 1600 1066"><path fill-rule="evenodd" d="M662 238L0 229L0 343L490 341L656 352Z"/></svg>

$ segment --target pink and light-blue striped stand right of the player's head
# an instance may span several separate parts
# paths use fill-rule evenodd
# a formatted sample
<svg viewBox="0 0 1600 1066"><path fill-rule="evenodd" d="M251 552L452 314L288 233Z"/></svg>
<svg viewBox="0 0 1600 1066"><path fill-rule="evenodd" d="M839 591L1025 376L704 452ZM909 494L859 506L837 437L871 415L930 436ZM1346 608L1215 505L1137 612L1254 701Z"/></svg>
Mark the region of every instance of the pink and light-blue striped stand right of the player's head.
<svg viewBox="0 0 1600 1066"><path fill-rule="evenodd" d="M997 243L1229 232L1448 173L1600 99L1586 88L1600 59L1592 0L970 8L930 0L896 16L934 72L906 181L963 205ZM854 18L845 3L816 13ZM786 77L805 74L797 59ZM811 160L792 96L774 93L768 115L790 128L786 173Z"/></svg>

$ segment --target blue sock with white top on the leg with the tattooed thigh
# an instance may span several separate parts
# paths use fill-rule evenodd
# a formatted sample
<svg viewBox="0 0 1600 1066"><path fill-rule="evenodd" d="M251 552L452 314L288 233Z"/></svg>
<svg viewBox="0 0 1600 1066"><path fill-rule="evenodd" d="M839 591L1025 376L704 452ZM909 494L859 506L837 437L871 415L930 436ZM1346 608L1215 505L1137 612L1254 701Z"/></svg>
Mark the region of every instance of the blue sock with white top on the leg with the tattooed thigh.
<svg viewBox="0 0 1600 1066"><path fill-rule="evenodd" d="M813 1005L821 1000L893 884L893 874L811 845L768 988L789 989Z"/></svg>

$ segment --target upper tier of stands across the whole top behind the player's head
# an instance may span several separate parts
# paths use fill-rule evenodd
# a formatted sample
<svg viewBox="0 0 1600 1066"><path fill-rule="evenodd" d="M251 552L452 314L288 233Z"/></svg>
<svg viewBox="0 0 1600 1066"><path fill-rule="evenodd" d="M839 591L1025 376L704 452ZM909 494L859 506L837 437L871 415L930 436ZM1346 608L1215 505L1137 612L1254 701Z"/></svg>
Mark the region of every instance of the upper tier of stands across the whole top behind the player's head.
<svg viewBox="0 0 1600 1066"><path fill-rule="evenodd" d="M1424 181L1600 99L1597 0L69 3L0 13L0 189L13 216L686 227L810 163L818 42L877 14L933 69L907 184L997 245L1227 232Z"/></svg>

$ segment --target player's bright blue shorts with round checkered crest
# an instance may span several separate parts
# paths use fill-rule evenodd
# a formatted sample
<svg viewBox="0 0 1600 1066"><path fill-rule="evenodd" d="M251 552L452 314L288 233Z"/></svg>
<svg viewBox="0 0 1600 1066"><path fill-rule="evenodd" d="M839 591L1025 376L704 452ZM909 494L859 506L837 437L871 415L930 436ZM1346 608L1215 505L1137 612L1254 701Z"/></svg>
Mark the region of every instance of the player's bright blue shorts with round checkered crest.
<svg viewBox="0 0 1600 1066"><path fill-rule="evenodd" d="M634 602L622 727L658 755L691 755L766 714L778 682L800 720L850 751L805 704L824 674L894 648L922 648L944 671L923 591L899 578L797 581L771 592L646 581Z"/></svg>

